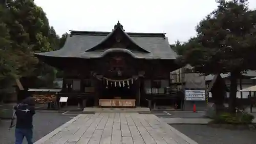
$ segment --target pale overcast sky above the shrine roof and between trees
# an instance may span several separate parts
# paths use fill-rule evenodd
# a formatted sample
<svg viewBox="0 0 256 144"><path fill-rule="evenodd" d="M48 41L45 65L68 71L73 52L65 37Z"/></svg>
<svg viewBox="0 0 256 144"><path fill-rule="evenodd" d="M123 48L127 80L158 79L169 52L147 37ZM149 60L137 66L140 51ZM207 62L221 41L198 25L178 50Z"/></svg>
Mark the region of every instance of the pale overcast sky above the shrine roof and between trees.
<svg viewBox="0 0 256 144"><path fill-rule="evenodd" d="M61 35L69 30L166 33L169 43L187 41L195 26L217 8L215 0L35 0ZM256 1L249 0L249 8Z"/></svg>

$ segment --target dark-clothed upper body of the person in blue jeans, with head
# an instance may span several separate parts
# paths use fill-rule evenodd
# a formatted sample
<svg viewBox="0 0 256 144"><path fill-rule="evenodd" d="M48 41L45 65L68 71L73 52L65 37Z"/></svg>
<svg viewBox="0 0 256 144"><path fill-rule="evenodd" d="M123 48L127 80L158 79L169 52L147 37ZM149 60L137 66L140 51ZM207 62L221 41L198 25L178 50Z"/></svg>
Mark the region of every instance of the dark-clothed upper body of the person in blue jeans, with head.
<svg viewBox="0 0 256 144"><path fill-rule="evenodd" d="M14 107L17 117L16 128L20 129L32 129L33 128L33 115L35 114L35 100L32 97L28 97L22 101L22 104L18 104Z"/></svg>

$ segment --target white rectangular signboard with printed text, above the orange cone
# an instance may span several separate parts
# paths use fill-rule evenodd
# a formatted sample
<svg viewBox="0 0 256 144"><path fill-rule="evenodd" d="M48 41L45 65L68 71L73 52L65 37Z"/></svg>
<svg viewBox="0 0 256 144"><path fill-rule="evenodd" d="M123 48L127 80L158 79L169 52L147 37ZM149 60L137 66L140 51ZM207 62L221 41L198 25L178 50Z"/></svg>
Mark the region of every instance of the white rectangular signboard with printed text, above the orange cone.
<svg viewBox="0 0 256 144"><path fill-rule="evenodd" d="M204 90L186 90L185 100L205 100Z"/></svg>

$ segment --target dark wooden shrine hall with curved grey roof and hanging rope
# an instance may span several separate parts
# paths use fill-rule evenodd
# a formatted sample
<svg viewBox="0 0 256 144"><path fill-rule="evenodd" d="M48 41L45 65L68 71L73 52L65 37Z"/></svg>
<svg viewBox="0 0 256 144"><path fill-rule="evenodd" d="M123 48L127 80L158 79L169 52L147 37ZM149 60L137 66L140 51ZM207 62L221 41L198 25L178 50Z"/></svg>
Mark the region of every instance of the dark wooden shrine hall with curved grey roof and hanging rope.
<svg viewBox="0 0 256 144"><path fill-rule="evenodd" d="M71 31L56 51L34 53L63 71L59 97L86 107L145 107L147 100L170 95L170 72L177 54L164 33Z"/></svg>

